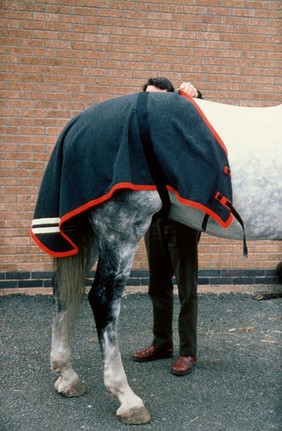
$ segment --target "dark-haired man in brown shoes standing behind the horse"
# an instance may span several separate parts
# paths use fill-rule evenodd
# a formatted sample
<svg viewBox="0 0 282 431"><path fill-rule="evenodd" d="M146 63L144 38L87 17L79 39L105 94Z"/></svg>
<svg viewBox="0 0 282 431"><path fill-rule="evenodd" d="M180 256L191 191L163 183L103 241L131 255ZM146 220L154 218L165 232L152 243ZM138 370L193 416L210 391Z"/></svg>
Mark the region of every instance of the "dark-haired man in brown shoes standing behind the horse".
<svg viewBox="0 0 282 431"><path fill-rule="evenodd" d="M202 98L191 83L180 89L191 97ZM143 91L173 92L172 83L164 77L150 78ZM149 296L153 304L153 342L135 352L137 362L154 361L173 356L172 319L175 275L180 300L178 317L179 356L171 373L183 376L193 370L197 361L197 277L200 232L171 219L160 217L151 223L145 235L150 279Z"/></svg>

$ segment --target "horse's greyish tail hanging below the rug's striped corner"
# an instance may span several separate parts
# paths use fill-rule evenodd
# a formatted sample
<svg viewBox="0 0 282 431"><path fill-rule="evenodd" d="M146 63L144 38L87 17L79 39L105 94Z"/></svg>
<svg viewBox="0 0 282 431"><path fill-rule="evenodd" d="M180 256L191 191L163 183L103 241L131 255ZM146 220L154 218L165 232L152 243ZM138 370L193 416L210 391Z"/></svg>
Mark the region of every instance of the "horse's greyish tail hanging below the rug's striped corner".
<svg viewBox="0 0 282 431"><path fill-rule="evenodd" d="M78 253L74 256L54 258L53 291L58 306L73 315L85 293L86 271L91 266L94 232L88 220L77 226Z"/></svg>

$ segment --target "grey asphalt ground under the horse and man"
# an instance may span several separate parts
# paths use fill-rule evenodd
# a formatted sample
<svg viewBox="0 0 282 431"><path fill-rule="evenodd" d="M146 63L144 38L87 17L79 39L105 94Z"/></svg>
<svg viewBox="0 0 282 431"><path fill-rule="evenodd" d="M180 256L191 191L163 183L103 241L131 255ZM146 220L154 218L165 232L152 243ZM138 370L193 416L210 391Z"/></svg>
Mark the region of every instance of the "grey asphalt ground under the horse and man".
<svg viewBox="0 0 282 431"><path fill-rule="evenodd" d="M271 296L270 296L271 297ZM199 295L198 364L187 376L169 373L173 359L131 360L151 341L152 312L146 294L122 300L119 340L133 390L152 420L123 425L118 402L103 385L102 361L87 300L77 322L73 364L88 386L80 398L53 389L49 366L52 298L2 296L1 431L270 431L282 430L281 298L247 294ZM178 298L175 297L175 356Z"/></svg>

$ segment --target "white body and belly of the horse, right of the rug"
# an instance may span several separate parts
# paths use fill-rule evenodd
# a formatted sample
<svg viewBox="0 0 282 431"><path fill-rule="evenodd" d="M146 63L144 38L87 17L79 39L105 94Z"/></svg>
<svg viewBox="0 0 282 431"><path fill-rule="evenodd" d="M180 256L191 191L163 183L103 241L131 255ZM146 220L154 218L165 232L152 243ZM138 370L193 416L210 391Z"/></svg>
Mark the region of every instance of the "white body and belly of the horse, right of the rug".
<svg viewBox="0 0 282 431"><path fill-rule="evenodd" d="M195 99L228 150L233 205L245 224L247 239L282 238L282 105L248 108ZM170 217L201 227L199 211L179 205L171 193ZM209 219L207 232L238 239L237 220L221 228Z"/></svg>

